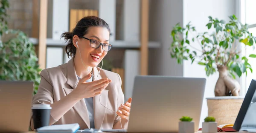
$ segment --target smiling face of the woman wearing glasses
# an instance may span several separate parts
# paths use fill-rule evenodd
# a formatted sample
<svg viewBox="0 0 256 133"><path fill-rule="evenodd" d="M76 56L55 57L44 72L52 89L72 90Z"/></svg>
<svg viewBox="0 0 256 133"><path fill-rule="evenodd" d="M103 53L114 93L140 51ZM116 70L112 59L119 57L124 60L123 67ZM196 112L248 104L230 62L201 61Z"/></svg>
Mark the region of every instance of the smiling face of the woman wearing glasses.
<svg viewBox="0 0 256 133"><path fill-rule="evenodd" d="M102 59L107 55L107 51L102 49L102 45L99 48L93 48L91 46L95 46L96 43L109 43L109 32L105 27L90 27L88 28L88 32L83 36L84 38L78 38L78 46L79 49L76 49L76 55L80 54L81 58L84 61L84 65L90 67L97 67L98 64L102 61ZM88 39L92 39L87 40ZM96 41L99 42L96 42ZM90 46L91 43L91 46ZM76 45L76 44L75 44ZM77 47L77 46L76 46Z"/></svg>

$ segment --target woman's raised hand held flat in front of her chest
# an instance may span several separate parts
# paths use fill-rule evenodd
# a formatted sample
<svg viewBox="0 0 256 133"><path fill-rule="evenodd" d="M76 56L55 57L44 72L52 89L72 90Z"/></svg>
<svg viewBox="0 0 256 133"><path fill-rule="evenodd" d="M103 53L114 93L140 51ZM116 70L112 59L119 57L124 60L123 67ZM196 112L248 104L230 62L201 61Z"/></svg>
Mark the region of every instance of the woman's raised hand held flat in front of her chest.
<svg viewBox="0 0 256 133"><path fill-rule="evenodd" d="M111 79L102 78L97 81L86 82L91 77L91 73L81 78L77 84L76 89L73 90L73 94L80 99L90 98L96 95L99 95L102 90L104 90L108 84L111 82Z"/></svg>

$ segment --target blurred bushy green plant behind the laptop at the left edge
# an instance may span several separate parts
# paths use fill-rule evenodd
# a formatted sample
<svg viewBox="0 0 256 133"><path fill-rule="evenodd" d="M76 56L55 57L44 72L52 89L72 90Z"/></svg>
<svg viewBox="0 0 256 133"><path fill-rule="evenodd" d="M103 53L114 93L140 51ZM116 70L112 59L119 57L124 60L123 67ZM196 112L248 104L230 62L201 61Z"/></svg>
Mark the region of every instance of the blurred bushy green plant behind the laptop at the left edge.
<svg viewBox="0 0 256 133"><path fill-rule="evenodd" d="M9 29L8 0L0 0L0 80L34 81L34 94L40 83L41 69L35 47L24 32Z"/></svg>

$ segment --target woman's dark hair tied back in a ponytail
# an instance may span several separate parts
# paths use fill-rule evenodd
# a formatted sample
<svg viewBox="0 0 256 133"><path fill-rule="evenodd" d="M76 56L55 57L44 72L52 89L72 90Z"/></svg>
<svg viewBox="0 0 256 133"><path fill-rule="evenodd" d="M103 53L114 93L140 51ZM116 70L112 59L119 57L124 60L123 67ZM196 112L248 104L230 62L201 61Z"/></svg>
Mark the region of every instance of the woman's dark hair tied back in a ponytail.
<svg viewBox="0 0 256 133"><path fill-rule="evenodd" d="M96 16L83 17L77 22L76 27L73 29L72 32L65 32L61 34L61 38L64 37L65 41L68 42L66 46L66 53L68 58L69 56L73 57L74 55L76 55L76 47L73 45L73 36L78 35L79 38L81 38L82 36L87 34L88 28L91 26L105 27L110 33L108 23L106 23L101 18Z"/></svg>

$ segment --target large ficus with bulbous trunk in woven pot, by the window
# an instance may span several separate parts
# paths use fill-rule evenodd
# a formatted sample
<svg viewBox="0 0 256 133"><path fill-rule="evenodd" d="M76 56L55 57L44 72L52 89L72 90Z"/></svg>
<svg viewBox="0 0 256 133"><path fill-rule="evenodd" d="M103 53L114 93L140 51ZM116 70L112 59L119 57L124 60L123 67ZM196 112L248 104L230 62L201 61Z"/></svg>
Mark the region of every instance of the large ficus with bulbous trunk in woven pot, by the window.
<svg viewBox="0 0 256 133"><path fill-rule="evenodd" d="M255 48L256 37L248 31L248 25L239 22L235 15L229 18L226 23L209 16L207 30L202 33L197 33L190 22L184 28L177 23L171 32L173 41L169 49L178 64L190 60L191 64L203 65L207 76L218 72L215 98L207 99L208 115L215 117L218 124L236 120L243 101L238 97L241 87L236 77L253 72L249 59L256 58L255 54L248 58L241 54L242 48Z"/></svg>

